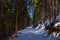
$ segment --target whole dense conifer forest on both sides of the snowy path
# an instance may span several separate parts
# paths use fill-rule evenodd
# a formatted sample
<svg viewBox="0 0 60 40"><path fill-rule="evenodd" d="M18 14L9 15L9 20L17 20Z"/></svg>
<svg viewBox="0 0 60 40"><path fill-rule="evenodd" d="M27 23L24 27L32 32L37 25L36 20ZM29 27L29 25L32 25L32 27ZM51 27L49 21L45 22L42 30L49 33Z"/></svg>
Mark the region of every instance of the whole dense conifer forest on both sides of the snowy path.
<svg viewBox="0 0 60 40"><path fill-rule="evenodd" d="M43 22L51 17L55 20L60 14L60 0L0 0L0 40L10 37L37 22ZM28 5L33 5L34 13L31 19Z"/></svg>

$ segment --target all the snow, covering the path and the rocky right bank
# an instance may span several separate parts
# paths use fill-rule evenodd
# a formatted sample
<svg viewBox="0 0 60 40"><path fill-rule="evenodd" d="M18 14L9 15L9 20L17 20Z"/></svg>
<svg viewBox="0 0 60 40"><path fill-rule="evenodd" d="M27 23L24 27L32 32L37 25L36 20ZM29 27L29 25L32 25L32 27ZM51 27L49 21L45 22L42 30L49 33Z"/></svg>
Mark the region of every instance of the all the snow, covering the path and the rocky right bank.
<svg viewBox="0 0 60 40"><path fill-rule="evenodd" d="M56 17L56 20L60 20L60 15ZM53 21L53 18L51 21ZM47 19L44 24L50 25L50 20ZM44 24L38 24L36 28L30 26L24 30L18 31L17 37L15 37L14 40L60 40L60 34L56 32L47 36L48 30L45 30ZM57 25L60 25L60 22L56 23L54 26L57 27Z"/></svg>

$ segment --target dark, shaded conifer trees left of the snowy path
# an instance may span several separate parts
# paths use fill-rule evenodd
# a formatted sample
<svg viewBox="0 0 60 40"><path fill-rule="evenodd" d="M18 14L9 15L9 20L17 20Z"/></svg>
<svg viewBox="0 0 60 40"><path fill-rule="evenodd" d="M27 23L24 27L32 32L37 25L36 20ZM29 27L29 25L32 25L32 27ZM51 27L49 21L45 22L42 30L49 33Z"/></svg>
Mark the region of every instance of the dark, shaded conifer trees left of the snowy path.
<svg viewBox="0 0 60 40"><path fill-rule="evenodd" d="M24 0L0 0L0 40L30 26L31 19Z"/></svg>

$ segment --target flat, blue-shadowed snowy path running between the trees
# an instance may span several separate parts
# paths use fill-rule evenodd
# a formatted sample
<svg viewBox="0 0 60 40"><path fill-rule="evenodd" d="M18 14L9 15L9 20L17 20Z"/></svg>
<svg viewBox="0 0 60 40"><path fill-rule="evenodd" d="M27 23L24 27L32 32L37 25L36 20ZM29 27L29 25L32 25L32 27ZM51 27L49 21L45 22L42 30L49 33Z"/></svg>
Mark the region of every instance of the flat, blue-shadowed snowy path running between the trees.
<svg viewBox="0 0 60 40"><path fill-rule="evenodd" d="M26 29L19 31L19 35L14 38L14 40L60 40L60 36L54 37L52 34L45 36L47 34L46 30L37 30L32 27L27 27Z"/></svg>

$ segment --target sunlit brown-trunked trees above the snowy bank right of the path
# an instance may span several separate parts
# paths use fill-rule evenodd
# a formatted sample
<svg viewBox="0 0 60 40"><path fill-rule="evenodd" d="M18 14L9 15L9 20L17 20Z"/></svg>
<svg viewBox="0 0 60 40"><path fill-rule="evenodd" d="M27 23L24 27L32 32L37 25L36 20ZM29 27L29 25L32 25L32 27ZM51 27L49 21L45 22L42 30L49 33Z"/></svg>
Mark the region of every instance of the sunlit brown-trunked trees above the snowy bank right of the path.
<svg viewBox="0 0 60 40"><path fill-rule="evenodd" d="M60 14L59 0L31 0L34 5L33 24L46 19L56 20L56 16Z"/></svg>

